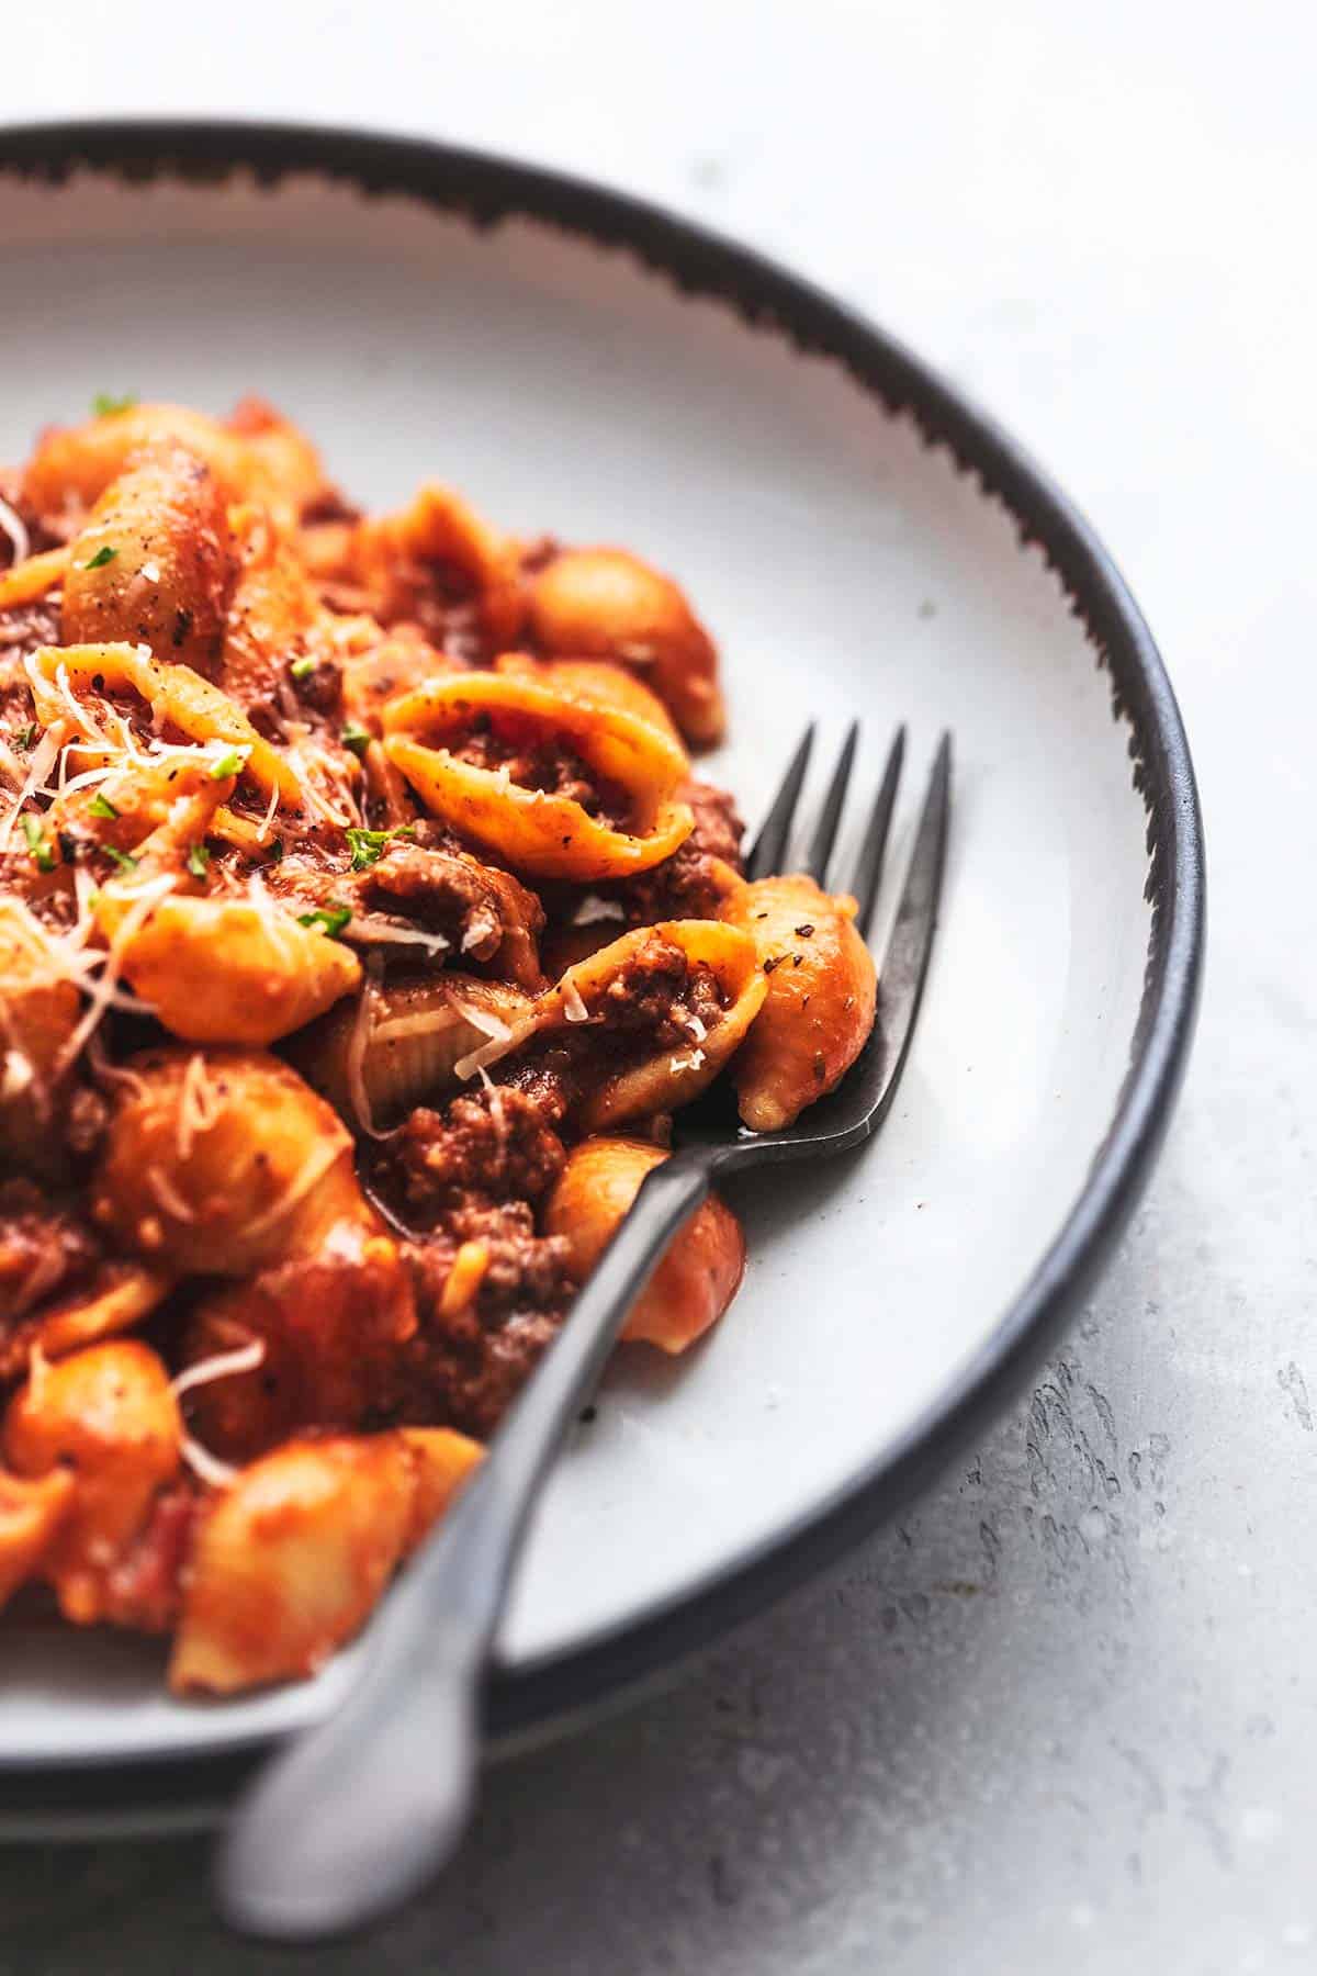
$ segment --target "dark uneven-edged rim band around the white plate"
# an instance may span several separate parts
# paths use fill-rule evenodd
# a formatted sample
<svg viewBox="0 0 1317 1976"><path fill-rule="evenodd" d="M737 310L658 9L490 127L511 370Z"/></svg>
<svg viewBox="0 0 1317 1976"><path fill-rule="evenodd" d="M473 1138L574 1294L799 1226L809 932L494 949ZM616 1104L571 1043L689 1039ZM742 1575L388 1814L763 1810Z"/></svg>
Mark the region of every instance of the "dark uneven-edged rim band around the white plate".
<svg viewBox="0 0 1317 1976"><path fill-rule="evenodd" d="M45 123L0 130L4 176L63 184L89 168L128 184L223 186L239 172L276 186L316 174L363 194L403 194L478 227L525 217L630 249L693 296L727 302L800 352L833 358L889 411L908 413L1003 502L1070 597L1131 727L1133 784L1147 808L1151 939L1139 1018L1116 1114L1088 1180L1031 1280L938 1401L829 1502L744 1551L695 1591L584 1646L494 1672L494 1749L537 1739L671 1670L794 1585L835 1563L948 1466L1017 1395L1120 1237L1151 1172L1181 1083L1202 974L1202 818L1175 694L1112 557L1066 496L991 419L898 342L748 247L658 206L511 158L423 138L241 121ZM186 1753L32 1769L0 1751L0 1838L182 1824L217 1812L265 1741L235 1745L197 1723Z"/></svg>

